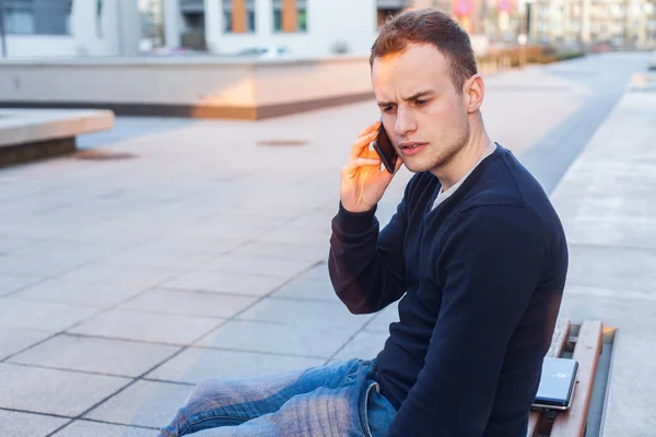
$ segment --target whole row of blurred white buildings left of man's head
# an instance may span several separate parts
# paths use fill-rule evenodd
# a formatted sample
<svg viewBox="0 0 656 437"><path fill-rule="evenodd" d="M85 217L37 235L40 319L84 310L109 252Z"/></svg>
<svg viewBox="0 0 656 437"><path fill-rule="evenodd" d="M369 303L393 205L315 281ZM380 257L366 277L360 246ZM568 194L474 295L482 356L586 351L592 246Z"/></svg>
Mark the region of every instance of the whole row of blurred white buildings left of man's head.
<svg viewBox="0 0 656 437"><path fill-rule="evenodd" d="M367 52L377 26L409 3L409 0L3 0L0 7L4 55L10 58L136 56L180 48L234 54L261 46L284 46L300 56L326 56Z"/></svg>

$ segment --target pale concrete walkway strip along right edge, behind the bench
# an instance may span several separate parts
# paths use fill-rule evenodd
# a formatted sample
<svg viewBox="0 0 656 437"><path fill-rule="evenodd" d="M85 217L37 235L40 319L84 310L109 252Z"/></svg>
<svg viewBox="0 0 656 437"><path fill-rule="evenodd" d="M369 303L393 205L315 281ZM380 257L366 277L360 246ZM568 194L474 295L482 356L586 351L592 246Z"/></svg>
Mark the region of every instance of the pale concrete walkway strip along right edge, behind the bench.
<svg viewBox="0 0 656 437"><path fill-rule="evenodd" d="M561 312L618 328L604 437L656 429L656 87L624 94L552 196L571 261Z"/></svg>

